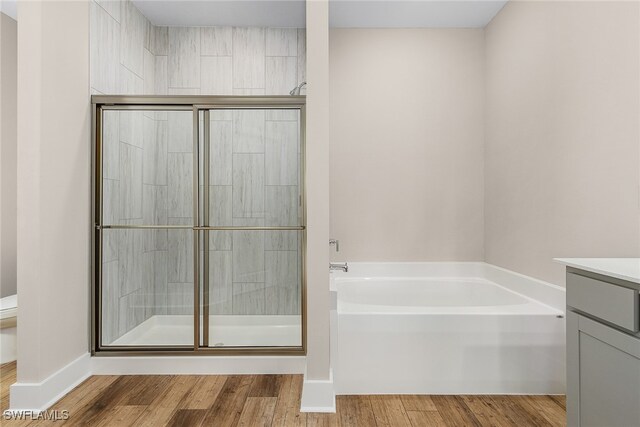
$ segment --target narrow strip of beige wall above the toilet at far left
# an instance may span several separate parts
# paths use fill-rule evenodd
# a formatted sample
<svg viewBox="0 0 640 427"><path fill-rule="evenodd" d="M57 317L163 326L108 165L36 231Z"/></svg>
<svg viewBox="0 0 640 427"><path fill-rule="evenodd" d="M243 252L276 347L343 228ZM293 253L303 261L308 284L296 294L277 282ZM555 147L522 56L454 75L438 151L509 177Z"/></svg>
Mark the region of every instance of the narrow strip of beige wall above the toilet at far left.
<svg viewBox="0 0 640 427"><path fill-rule="evenodd" d="M0 13L0 298L16 293L17 31Z"/></svg>

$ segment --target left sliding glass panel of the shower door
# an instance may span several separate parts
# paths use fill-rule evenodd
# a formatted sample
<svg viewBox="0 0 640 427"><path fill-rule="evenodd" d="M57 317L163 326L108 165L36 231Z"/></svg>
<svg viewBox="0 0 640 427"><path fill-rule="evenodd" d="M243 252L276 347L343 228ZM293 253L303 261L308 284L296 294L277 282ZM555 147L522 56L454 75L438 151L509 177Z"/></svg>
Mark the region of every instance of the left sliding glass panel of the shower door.
<svg viewBox="0 0 640 427"><path fill-rule="evenodd" d="M105 109L100 333L109 347L193 347L193 112Z"/></svg>

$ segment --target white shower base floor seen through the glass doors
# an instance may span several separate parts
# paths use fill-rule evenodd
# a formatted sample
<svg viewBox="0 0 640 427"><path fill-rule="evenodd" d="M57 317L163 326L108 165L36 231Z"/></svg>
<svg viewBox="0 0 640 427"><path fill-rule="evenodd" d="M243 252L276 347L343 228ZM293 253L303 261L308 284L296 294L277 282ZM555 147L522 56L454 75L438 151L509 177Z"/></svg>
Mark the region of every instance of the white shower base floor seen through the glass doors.
<svg viewBox="0 0 640 427"><path fill-rule="evenodd" d="M298 347L302 345L299 315L209 316L210 347ZM156 315L111 346L193 345L193 316Z"/></svg>

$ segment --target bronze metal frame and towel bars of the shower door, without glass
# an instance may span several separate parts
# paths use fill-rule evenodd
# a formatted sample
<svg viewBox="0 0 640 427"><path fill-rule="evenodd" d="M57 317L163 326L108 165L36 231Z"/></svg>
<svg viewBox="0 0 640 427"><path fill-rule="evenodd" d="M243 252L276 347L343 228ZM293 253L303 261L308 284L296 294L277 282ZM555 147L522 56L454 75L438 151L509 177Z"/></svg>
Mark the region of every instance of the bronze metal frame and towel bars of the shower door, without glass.
<svg viewBox="0 0 640 427"><path fill-rule="evenodd" d="M305 125L305 96L124 96L124 95L92 95L92 157L91 157L91 290L90 290L90 352L93 356L145 356L155 355L305 355L307 347L307 274L306 274L306 125ZM301 224L292 227L235 227L209 225L209 112L210 110L238 110L238 109L294 109L300 112L300 208L302 209ZM168 110L193 112L193 224L182 225L103 225L102 223L102 127L103 112L105 110ZM200 113L204 118L203 153L200 155ZM200 161L203 164L203 219L200 219ZM193 263L194 263L194 295L193 345L164 345L164 346L102 346L102 233L108 229L184 229L193 231ZM301 317L301 345L300 346L238 346L238 347L208 347L209 326L209 256L203 256L203 277L200 279L200 237L204 235L203 253L207 253L209 232L214 230L244 230L244 231L273 231L296 230L302 235L302 253L300 278L300 317ZM203 289L200 288L202 283ZM200 293L203 293L203 343L200 345ZM207 299L205 299L207 297ZM205 317L206 316L206 317Z"/></svg>

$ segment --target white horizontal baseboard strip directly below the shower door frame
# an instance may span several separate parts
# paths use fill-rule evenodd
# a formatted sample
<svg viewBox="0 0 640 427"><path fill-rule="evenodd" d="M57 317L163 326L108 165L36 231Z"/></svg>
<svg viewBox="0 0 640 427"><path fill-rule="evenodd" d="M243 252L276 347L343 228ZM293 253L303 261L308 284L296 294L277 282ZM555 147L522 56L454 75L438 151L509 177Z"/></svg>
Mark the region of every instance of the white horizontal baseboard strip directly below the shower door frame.
<svg viewBox="0 0 640 427"><path fill-rule="evenodd" d="M301 374L304 356L93 357L93 375Z"/></svg>

